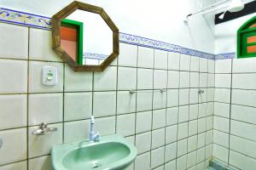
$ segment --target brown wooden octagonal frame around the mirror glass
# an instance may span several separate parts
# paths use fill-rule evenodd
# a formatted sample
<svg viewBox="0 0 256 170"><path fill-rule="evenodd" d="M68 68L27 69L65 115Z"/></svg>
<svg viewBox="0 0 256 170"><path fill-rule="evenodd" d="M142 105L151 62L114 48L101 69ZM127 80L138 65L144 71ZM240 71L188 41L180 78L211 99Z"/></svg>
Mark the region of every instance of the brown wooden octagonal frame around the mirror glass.
<svg viewBox="0 0 256 170"><path fill-rule="evenodd" d="M102 62L101 65L79 65L69 56L69 54L66 53L64 49L61 48L61 20L65 19L69 14L72 14L76 9L100 14L102 19L105 20L106 24L113 31L113 52ZM52 48L54 49L55 53L58 54L61 59L73 69L73 71L104 71L119 55L119 29L114 25L113 21L109 18L108 14L103 8L96 7L88 3L74 1L52 17Z"/></svg>

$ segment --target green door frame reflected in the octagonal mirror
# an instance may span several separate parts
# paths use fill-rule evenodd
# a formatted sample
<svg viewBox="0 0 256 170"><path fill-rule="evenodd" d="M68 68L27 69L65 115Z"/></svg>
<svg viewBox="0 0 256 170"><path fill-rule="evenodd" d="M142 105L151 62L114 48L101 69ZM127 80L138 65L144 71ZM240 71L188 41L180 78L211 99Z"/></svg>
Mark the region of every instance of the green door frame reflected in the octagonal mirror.
<svg viewBox="0 0 256 170"><path fill-rule="evenodd" d="M78 31L78 54L77 54L77 62L78 65L83 65L83 38L84 38L84 23L76 20L61 20L61 26L76 28Z"/></svg>

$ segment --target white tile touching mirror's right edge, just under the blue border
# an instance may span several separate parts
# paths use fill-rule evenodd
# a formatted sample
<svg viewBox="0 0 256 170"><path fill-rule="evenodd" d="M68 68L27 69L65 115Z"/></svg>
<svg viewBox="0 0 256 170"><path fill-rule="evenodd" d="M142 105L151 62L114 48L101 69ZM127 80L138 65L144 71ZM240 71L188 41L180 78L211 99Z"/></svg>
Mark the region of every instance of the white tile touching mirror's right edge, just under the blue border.
<svg viewBox="0 0 256 170"><path fill-rule="evenodd" d="M137 66L137 46L119 43L119 65Z"/></svg>

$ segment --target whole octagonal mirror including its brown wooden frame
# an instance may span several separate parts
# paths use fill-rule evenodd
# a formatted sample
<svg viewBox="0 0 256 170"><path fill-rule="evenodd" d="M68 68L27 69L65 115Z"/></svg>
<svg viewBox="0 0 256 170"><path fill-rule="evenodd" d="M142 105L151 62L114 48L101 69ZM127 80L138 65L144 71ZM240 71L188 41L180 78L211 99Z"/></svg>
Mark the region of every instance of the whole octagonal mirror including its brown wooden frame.
<svg viewBox="0 0 256 170"><path fill-rule="evenodd" d="M103 8L73 2L52 17L53 49L73 71L104 71L119 54L119 29Z"/></svg>

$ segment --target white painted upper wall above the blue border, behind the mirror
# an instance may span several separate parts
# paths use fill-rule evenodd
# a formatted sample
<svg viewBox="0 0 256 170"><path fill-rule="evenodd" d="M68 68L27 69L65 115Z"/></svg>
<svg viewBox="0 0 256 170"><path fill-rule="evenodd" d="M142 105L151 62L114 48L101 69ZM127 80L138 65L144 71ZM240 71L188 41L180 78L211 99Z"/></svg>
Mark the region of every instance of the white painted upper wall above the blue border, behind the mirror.
<svg viewBox="0 0 256 170"><path fill-rule="evenodd" d="M200 8L200 0L80 1L104 8L119 27L119 31L209 53L214 51L212 16L202 17L199 14L190 18L189 26L183 23L186 14ZM72 2L72 0L2 0L0 6L52 16ZM214 2L215 0L203 1L205 6ZM207 22L207 20L211 21Z"/></svg>

